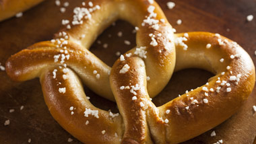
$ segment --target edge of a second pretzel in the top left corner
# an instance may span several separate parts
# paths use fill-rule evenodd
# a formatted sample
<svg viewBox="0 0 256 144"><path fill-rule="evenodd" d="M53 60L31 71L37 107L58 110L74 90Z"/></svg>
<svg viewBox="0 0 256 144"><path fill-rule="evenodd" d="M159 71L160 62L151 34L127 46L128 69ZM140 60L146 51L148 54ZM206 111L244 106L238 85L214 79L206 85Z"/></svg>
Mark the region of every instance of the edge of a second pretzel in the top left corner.
<svg viewBox="0 0 256 144"><path fill-rule="evenodd" d="M0 22L13 15L26 11L43 0L0 0Z"/></svg>

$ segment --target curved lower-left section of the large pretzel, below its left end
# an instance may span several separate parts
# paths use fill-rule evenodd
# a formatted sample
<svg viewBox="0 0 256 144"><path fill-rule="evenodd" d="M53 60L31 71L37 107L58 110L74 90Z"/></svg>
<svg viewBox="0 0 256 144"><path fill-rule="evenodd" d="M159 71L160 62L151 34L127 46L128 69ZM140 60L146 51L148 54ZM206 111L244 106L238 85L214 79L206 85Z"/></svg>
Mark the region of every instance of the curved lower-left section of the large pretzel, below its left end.
<svg viewBox="0 0 256 144"><path fill-rule="evenodd" d="M55 79L54 69L59 71ZM64 74L68 79L63 79ZM40 76L40 83L51 114L74 137L84 143L120 143L123 137L121 115L111 117L109 112L94 107L86 98L82 82L73 70L67 68L63 73L59 67L46 69ZM59 92L59 88L65 88L65 93ZM84 112L88 112L87 115Z"/></svg>

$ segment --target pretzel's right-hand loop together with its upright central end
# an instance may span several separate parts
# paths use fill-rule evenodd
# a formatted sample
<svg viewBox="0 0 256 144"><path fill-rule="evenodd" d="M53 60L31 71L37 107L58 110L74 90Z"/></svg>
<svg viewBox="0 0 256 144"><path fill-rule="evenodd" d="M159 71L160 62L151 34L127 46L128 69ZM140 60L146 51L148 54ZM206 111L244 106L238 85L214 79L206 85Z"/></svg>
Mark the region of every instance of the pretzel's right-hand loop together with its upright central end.
<svg viewBox="0 0 256 144"><path fill-rule="evenodd" d="M135 57L116 61L110 74L110 85L125 121L123 143L131 139L139 143L186 141L232 116L251 94L255 68L241 46L228 38L207 32L175 34L175 39L184 35L187 35L184 42L187 50L183 49L184 44L177 43L175 70L199 68L216 75L205 85L156 108L145 88L147 83L143 61ZM207 44L212 44L211 48L206 48ZM224 61L221 60L223 58ZM131 65L129 71L119 73L124 65ZM130 89L120 89L121 85L137 85L136 95Z"/></svg>

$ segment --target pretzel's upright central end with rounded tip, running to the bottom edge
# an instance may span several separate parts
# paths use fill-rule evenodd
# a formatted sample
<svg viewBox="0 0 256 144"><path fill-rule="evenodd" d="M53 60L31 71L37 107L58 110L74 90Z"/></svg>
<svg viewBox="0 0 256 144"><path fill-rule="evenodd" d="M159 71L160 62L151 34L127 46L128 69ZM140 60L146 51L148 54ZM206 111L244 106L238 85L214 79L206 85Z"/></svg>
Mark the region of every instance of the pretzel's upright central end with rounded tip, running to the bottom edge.
<svg viewBox="0 0 256 144"><path fill-rule="evenodd" d="M129 65L129 71L120 74L119 71ZM110 79L119 111L125 121L125 134L122 143L152 143L148 124L146 123L146 106L149 100L146 85L145 64L138 57L130 57L126 61L118 61L113 67ZM116 73L117 71L117 73ZM130 79L127 81L127 79ZM129 88L122 88L122 86ZM138 89L133 89L137 87ZM133 99L133 97L136 99ZM145 105L141 106L141 104Z"/></svg>

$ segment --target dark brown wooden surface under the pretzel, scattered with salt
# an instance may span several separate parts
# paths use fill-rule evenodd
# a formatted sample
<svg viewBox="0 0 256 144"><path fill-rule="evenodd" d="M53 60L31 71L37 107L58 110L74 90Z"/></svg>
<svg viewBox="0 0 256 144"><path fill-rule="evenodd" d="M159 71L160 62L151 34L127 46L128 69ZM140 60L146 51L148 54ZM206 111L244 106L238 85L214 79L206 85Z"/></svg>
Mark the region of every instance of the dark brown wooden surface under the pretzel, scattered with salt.
<svg viewBox="0 0 256 144"><path fill-rule="evenodd" d="M59 30L61 20L70 17L73 7L82 0L67 0L69 7L65 13L59 11L54 0L44 1L40 5L26 11L23 17L13 17L0 22L0 63L15 52L18 52L35 42L50 40ZM256 1L255 0L173 0L174 9L168 9L168 1L158 3L164 10L170 24L177 32L206 31L222 34L240 44L256 63ZM61 1L64 2L64 1ZM254 15L252 22L247 22L247 15ZM182 24L177 25L181 19ZM117 59L115 52L121 53L135 46L133 26L127 22L118 21L110 26L98 37L102 44L95 42L91 51L108 65L113 65ZM119 38L118 32L123 32ZM131 45L124 44L124 40L131 41ZM108 48L103 48L103 44ZM120 48L121 47L121 48ZM108 54L108 55L106 55ZM174 73L172 79L153 102L160 106L169 100L184 94L185 90L192 89L206 83L212 73L199 69L187 69ZM116 104L96 96L85 87L86 94L98 108L111 109L117 112ZM191 139L186 144L216 143L222 139L224 143L251 144L256 135L256 88L248 100L236 114L220 124L218 127ZM20 107L24 106L23 110ZM14 109L14 112L9 112ZM10 120L4 126L5 120ZM211 137L216 131L216 137ZM184 134L186 135L186 134ZM21 83L11 81L5 71L0 71L0 143L16 144L28 143L81 143L62 129L49 113L38 79ZM185 144L183 143L183 144Z"/></svg>

